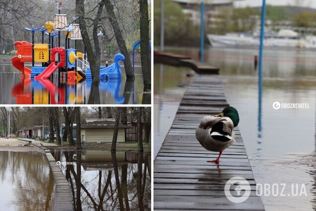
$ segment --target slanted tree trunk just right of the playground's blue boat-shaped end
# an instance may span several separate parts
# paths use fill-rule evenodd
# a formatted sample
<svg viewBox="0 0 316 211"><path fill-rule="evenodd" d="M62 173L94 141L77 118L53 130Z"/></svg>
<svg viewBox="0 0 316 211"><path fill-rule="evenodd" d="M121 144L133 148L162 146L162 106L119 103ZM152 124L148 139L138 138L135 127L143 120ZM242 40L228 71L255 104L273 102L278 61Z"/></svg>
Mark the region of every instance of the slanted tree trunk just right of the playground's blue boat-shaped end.
<svg viewBox="0 0 316 211"><path fill-rule="evenodd" d="M103 0L103 1L104 1L104 6L106 8L106 11L108 13L108 18L109 18L111 25L112 25L112 28L114 30L117 45L119 46L121 53L125 57L124 69L125 69L125 73L126 73L126 78L134 80L135 76L133 73L133 67L132 67L132 63L131 63L130 54L127 50L125 40L123 39L122 31L120 29L119 23L118 23L117 18L115 16L113 4L112 4L111 0Z"/></svg>

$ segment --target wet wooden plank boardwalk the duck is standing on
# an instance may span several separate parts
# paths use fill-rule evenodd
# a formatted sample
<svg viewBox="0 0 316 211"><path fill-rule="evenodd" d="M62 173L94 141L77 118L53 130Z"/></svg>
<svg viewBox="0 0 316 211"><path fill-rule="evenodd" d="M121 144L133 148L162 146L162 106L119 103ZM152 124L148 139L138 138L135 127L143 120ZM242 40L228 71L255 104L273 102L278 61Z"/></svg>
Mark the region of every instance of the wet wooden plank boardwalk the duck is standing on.
<svg viewBox="0 0 316 211"><path fill-rule="evenodd" d="M201 119L220 113L225 106L219 75L193 79L154 162L155 210L264 210L255 195L255 180L238 128L237 143L223 152L219 166L206 162L218 153L207 151L195 138ZM251 187L250 197L239 204L230 202L224 193L226 182L235 176L245 178Z"/></svg>

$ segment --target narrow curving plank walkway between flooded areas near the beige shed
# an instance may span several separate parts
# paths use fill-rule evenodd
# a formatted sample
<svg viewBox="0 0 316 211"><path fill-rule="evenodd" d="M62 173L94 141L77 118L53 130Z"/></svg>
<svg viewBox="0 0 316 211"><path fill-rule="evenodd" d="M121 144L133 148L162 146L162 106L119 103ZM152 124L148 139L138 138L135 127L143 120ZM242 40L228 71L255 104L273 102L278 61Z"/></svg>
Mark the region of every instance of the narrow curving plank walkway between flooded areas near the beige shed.
<svg viewBox="0 0 316 211"><path fill-rule="evenodd" d="M49 166L53 172L55 182L55 203L54 211L74 211L72 191L61 168L46 147L33 145L38 151L45 154Z"/></svg>

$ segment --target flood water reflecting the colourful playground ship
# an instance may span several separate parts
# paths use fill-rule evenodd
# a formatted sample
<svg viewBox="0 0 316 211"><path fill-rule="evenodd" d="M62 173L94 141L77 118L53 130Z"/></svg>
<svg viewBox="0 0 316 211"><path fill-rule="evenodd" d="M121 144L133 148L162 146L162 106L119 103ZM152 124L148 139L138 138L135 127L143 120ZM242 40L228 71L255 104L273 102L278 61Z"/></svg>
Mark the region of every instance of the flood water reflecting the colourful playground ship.
<svg viewBox="0 0 316 211"><path fill-rule="evenodd" d="M27 65L26 65L27 66ZM58 81L43 82L21 79L21 72L7 62L0 64L0 104L151 104L151 93L144 92L141 67L135 66L135 81L126 81L124 67L122 79L79 83Z"/></svg>

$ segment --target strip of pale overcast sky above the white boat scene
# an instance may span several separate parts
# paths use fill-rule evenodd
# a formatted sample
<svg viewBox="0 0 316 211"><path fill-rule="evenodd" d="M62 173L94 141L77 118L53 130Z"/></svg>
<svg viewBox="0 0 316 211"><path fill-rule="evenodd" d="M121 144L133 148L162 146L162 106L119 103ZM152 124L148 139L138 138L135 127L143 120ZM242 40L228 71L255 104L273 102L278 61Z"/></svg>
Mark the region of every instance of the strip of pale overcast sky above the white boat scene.
<svg viewBox="0 0 316 211"><path fill-rule="evenodd" d="M266 0L267 4L272 5L301 5L316 8L316 0ZM237 0L236 6L261 6L262 0Z"/></svg>

